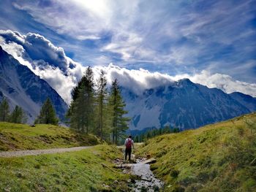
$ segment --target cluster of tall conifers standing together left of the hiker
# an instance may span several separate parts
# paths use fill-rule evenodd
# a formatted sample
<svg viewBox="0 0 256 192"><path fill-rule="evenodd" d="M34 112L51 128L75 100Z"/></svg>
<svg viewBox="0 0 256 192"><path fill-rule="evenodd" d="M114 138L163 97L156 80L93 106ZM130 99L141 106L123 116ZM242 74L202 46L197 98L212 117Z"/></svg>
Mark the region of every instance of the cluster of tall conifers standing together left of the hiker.
<svg viewBox="0 0 256 192"><path fill-rule="evenodd" d="M114 80L108 90L105 72L100 72L95 83L89 66L72 90L67 123L78 131L95 134L117 144L128 129L129 118L125 117L125 106L118 80Z"/></svg>

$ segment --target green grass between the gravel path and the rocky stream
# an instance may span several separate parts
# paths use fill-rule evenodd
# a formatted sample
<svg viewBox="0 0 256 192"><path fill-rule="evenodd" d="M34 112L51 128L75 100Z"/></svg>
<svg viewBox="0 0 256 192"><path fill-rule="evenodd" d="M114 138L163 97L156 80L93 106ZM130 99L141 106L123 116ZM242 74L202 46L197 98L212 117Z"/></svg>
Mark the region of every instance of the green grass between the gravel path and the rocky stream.
<svg viewBox="0 0 256 192"><path fill-rule="evenodd" d="M129 191L129 175L111 163L120 155L114 146L97 145L78 152L0 158L0 191Z"/></svg>

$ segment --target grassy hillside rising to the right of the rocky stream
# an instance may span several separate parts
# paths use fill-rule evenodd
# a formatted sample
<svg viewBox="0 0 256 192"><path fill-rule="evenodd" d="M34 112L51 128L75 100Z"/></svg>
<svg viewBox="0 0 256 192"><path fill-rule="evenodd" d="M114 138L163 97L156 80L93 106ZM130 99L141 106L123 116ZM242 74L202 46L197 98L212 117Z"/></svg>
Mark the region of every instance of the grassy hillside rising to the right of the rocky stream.
<svg viewBox="0 0 256 192"><path fill-rule="evenodd" d="M256 113L146 142L138 151L157 163L165 191L256 191ZM256 130L255 130L256 131Z"/></svg>

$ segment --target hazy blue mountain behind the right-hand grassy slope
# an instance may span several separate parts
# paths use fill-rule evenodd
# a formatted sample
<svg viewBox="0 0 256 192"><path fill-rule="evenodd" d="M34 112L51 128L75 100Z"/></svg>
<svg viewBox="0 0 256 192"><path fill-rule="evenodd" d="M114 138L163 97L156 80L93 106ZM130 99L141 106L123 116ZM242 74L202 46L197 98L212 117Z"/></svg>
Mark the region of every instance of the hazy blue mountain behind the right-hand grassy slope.
<svg viewBox="0 0 256 192"><path fill-rule="evenodd" d="M130 130L173 126L184 129L198 128L209 123L234 118L255 111L256 101L248 96L227 94L217 88L207 88L189 79L170 85L151 88L135 94L122 88L127 103Z"/></svg>

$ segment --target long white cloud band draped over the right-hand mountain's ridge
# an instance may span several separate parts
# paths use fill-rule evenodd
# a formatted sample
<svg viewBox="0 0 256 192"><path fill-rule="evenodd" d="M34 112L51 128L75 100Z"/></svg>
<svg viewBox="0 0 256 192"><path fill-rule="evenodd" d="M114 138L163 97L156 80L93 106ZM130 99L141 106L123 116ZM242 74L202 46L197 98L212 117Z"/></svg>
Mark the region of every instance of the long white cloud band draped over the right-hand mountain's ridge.
<svg viewBox="0 0 256 192"><path fill-rule="evenodd" d="M161 85L171 85L174 81L189 78L192 82L206 85L208 88L219 88L225 93L238 91L256 97L255 83L241 82L234 80L227 74L211 74L206 70L193 75L178 74L176 76L170 76L169 74L159 72L148 72L145 69L129 70L110 64L105 67L94 67L94 72L97 74L100 69L107 72L109 82L116 78L121 86L129 88L137 94L143 93L145 89L156 88Z"/></svg>

